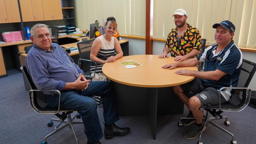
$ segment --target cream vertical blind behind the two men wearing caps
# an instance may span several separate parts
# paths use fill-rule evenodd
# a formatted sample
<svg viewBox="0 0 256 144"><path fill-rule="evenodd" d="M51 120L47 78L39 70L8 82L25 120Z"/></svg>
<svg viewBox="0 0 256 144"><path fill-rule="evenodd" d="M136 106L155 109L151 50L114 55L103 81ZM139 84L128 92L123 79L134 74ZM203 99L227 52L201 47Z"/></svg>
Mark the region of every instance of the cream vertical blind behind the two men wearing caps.
<svg viewBox="0 0 256 144"><path fill-rule="evenodd" d="M176 27L172 15L178 8L187 11L187 22L198 28L207 44L215 43L212 25L230 20L236 26L236 45L256 48L256 0L154 0L154 38L166 39Z"/></svg>

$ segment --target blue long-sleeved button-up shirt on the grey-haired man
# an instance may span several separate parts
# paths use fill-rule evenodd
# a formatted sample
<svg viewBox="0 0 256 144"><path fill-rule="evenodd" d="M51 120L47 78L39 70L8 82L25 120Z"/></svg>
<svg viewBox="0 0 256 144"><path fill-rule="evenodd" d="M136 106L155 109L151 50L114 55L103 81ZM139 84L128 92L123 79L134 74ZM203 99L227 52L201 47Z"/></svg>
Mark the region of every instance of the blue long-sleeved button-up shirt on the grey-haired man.
<svg viewBox="0 0 256 144"><path fill-rule="evenodd" d="M61 91L66 83L74 82L83 74L69 54L58 44L51 44L50 52L37 45L28 52L25 65L37 89Z"/></svg>

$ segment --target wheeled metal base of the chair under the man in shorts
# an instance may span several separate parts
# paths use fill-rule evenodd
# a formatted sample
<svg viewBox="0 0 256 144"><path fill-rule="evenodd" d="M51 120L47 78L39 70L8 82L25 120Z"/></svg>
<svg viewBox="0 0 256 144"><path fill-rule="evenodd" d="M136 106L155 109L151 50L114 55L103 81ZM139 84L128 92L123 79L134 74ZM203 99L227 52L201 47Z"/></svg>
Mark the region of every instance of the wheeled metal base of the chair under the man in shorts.
<svg viewBox="0 0 256 144"><path fill-rule="evenodd" d="M215 118L210 118L210 116L209 116L209 118L208 118L208 111L206 111L206 116L205 116L205 118L203 118L203 120L205 121L205 123L204 123L204 128L203 128L203 129L205 129L206 125L207 125L208 123L210 123L210 124L212 124L213 126L219 128L219 129L221 129L222 131L224 131L224 132L227 133L228 135L231 135L231 136L232 136L232 140L230 141L230 144L237 144L236 140L234 140L234 135L233 135L232 133L230 133L229 131L227 131L227 130L224 129L223 127L221 127L221 126L219 126L218 124L216 124L215 122L213 122L213 120L220 120L220 119L224 119L224 118L225 118L224 124L225 124L226 126L229 126L229 125L230 125L230 122L228 121L228 119L227 119L226 116L223 116L222 118L220 118L219 116L216 116ZM182 127L182 126L183 126L183 125L182 125L182 122L181 122L182 119L195 119L195 118L184 118L184 117L180 118L180 120L179 120L179 122L178 122L178 126L179 126L179 127ZM203 131L200 133L200 136L199 136L199 138L198 138L198 142L197 142L198 144L203 144L203 142L201 141L202 133L203 133Z"/></svg>

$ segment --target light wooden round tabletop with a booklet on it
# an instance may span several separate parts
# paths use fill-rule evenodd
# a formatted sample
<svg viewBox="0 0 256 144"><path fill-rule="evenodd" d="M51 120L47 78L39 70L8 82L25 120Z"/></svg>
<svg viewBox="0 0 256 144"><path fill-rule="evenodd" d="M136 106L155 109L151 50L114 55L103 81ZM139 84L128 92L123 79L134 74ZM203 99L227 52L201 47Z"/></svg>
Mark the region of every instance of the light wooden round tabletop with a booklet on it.
<svg viewBox="0 0 256 144"><path fill-rule="evenodd" d="M128 69L119 63L129 60L134 60L143 66ZM197 70L196 66L178 67L173 70L161 68L161 66L169 63L174 63L174 57L159 59L158 55L129 55L114 63L105 63L102 72L112 81L135 87L171 87L187 83L195 78L178 75L174 72L184 68Z"/></svg>

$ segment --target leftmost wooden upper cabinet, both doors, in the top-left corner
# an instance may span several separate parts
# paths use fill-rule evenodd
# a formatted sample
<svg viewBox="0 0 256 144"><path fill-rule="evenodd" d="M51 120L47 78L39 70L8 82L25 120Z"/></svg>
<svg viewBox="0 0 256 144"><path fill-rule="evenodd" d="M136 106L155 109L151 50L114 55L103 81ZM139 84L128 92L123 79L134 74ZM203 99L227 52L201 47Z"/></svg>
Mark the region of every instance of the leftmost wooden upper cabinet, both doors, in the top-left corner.
<svg viewBox="0 0 256 144"><path fill-rule="evenodd" d="M0 23L20 22L17 0L0 0Z"/></svg>

